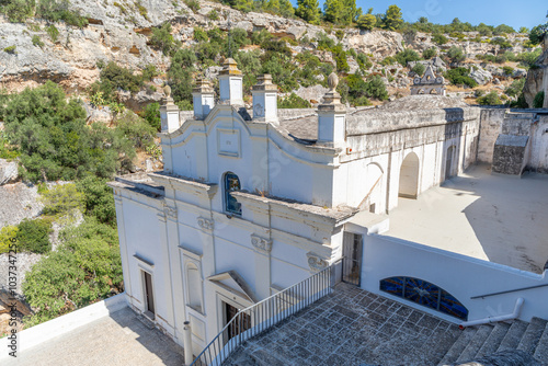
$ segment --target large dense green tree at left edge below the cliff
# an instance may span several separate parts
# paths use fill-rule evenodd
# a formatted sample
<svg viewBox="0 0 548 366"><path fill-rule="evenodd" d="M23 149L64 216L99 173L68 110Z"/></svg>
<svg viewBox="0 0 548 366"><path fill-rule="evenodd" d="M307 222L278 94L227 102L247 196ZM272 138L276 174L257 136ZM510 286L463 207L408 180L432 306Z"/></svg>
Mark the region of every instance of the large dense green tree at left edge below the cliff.
<svg viewBox="0 0 548 366"><path fill-rule="evenodd" d="M3 118L9 142L21 151L21 175L32 182L90 172L110 178L135 156L130 144L103 124L87 126L81 103L67 101L52 81L11 95Z"/></svg>

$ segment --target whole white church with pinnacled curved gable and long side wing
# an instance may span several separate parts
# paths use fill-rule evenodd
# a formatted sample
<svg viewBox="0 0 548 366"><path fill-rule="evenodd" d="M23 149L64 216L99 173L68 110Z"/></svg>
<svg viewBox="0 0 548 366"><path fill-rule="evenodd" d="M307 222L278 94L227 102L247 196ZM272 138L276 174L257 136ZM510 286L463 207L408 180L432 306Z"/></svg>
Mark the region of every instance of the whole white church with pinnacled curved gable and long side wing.
<svg viewBox="0 0 548 366"><path fill-rule="evenodd" d="M114 190L127 301L194 354L238 311L340 261L359 285L363 241L387 229L398 197L416 197L476 161L478 108L443 95L346 108L277 111L270 76L242 101L228 59L220 95L198 80L183 118L161 107L164 170ZM397 275L397 274L393 274Z"/></svg>

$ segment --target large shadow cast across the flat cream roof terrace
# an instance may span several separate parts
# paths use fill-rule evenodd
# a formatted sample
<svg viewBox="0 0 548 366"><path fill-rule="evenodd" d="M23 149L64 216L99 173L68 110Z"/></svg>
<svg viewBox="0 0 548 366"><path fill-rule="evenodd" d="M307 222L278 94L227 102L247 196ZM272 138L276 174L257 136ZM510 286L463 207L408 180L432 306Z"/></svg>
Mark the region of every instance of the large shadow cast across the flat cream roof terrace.
<svg viewBox="0 0 548 366"><path fill-rule="evenodd" d="M491 175L486 165L472 167L472 174L479 168L480 176L454 176L442 190L478 197L463 213L489 261L543 273L548 260L548 176Z"/></svg>

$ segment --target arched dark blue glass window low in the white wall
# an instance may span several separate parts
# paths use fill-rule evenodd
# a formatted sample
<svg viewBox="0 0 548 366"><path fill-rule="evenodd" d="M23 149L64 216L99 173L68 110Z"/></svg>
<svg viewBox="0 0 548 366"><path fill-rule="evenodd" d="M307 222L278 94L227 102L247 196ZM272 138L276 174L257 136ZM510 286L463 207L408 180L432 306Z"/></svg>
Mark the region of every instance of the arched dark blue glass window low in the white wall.
<svg viewBox="0 0 548 366"><path fill-rule="evenodd" d="M468 309L445 289L413 277L390 277L380 281L380 290L420 304L448 316L468 320Z"/></svg>

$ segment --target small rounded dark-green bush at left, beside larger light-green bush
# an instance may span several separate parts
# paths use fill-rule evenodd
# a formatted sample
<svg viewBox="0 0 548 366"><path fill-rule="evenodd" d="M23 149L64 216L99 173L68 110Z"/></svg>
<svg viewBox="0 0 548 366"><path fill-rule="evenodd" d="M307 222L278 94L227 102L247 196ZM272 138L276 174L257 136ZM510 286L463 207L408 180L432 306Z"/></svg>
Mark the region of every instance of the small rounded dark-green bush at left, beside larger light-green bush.
<svg viewBox="0 0 548 366"><path fill-rule="evenodd" d="M52 250L49 233L52 221L47 218L24 219L18 226L16 239L22 251L47 253Z"/></svg>

